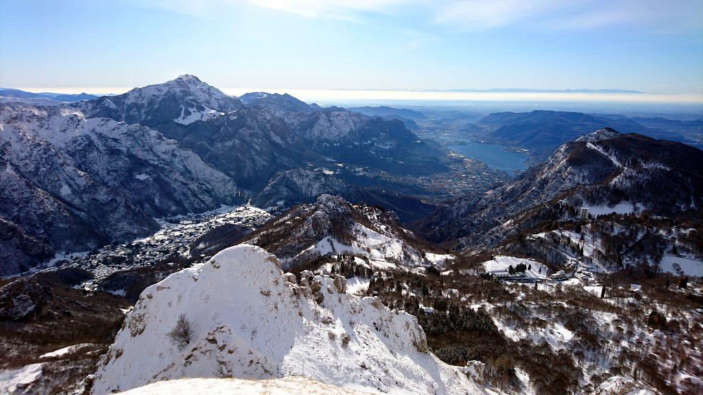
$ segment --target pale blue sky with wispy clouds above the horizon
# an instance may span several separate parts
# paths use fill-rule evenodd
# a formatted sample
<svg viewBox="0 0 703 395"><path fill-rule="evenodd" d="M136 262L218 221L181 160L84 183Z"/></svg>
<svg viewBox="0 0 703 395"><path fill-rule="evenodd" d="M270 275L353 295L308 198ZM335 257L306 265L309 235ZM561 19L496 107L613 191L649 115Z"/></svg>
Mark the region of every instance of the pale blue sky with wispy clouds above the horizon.
<svg viewBox="0 0 703 395"><path fill-rule="evenodd" d="M0 86L703 94L699 0L0 0Z"/></svg>

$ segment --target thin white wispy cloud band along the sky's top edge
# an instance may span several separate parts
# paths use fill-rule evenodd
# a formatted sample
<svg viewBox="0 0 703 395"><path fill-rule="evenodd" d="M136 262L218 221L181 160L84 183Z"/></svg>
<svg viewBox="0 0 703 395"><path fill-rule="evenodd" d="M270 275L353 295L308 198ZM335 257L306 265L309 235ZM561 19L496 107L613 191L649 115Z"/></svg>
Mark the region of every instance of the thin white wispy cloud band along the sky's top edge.
<svg viewBox="0 0 703 395"><path fill-rule="evenodd" d="M223 11L255 6L303 18L369 22L370 14L414 14L420 25L454 30L631 29L654 34L703 30L701 0L130 0L143 6L218 18ZM378 23L378 21L377 21Z"/></svg>

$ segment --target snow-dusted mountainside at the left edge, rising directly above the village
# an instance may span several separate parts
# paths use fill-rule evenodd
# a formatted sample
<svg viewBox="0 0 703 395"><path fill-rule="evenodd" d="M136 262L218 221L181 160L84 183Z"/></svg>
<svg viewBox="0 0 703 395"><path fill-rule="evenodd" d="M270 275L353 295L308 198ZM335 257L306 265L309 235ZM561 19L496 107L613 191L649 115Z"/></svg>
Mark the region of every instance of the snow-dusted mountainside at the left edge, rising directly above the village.
<svg viewBox="0 0 703 395"><path fill-rule="evenodd" d="M22 104L0 105L0 127L2 273L243 201L228 176L148 127Z"/></svg>

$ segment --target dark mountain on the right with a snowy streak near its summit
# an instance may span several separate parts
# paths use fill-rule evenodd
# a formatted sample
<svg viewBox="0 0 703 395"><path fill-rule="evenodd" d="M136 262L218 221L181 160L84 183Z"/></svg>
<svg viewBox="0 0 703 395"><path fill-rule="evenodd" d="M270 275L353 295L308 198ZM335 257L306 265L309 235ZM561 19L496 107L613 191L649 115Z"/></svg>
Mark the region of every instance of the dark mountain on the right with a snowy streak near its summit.
<svg viewBox="0 0 703 395"><path fill-rule="evenodd" d="M602 129L562 145L506 186L443 205L418 228L435 241L473 249L558 219L563 209L550 212L557 202L683 216L703 207L702 166L703 152L688 145Z"/></svg>

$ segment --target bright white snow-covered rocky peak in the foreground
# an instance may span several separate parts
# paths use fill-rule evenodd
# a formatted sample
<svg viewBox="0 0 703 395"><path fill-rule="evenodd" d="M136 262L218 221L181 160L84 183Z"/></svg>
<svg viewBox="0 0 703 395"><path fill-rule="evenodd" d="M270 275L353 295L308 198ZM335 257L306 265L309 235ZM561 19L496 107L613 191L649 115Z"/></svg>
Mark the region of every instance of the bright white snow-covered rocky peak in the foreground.
<svg viewBox="0 0 703 395"><path fill-rule="evenodd" d="M344 288L341 277L290 283L261 248L228 248L144 290L92 393L188 377L289 376L372 393L483 392L427 352L415 317ZM192 335L179 348L167 333L181 314Z"/></svg>

